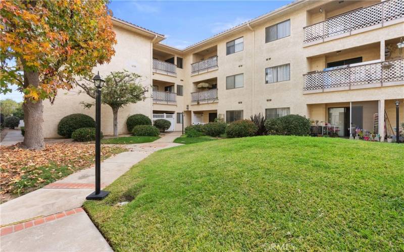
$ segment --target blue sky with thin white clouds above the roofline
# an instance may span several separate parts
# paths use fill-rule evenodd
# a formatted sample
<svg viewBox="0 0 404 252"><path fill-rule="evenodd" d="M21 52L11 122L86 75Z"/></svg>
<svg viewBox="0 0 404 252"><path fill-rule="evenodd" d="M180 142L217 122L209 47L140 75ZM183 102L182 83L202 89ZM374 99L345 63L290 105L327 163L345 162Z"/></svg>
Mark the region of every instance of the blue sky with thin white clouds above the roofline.
<svg viewBox="0 0 404 252"><path fill-rule="evenodd" d="M292 1L112 1L115 17L163 34L162 43L183 49ZM22 101L13 92L0 99Z"/></svg>

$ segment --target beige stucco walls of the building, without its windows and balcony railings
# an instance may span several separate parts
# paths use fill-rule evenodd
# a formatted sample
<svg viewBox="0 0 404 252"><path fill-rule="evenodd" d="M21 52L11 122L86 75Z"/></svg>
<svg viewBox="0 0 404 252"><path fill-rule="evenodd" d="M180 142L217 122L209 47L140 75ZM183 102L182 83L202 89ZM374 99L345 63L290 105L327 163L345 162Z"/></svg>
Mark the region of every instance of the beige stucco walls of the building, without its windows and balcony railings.
<svg viewBox="0 0 404 252"><path fill-rule="evenodd" d="M244 118L249 118L251 114L265 113L267 108L289 107L292 114L314 116L320 120L326 120L327 106L325 104L403 99L404 82L398 86L304 94L303 75L308 71L322 70L327 62L357 56L362 56L364 61L384 60L385 41L404 36L401 22L385 27L375 26L358 34L335 37L330 41L318 44L304 44L304 27L308 23L318 22L326 17L355 9L354 7L370 4L361 2L339 10L316 14L319 7L326 3L328 2L308 2L304 8L285 11L262 22L252 24L250 27L243 25L237 32L225 33L218 39L208 40L185 51L178 51L160 44L151 45L149 39L117 28L117 54L110 65L97 68L100 73L105 74L108 70L119 70L123 67L130 70L131 65L136 65L136 68L131 70L147 77L144 85L151 85L151 80L166 81L174 83L175 90L177 90L177 85L182 85L184 94L177 96L176 105L152 105L151 99L148 98L145 102L122 109L119 117L120 133L126 133L125 119L134 112L150 116L153 110L175 113L188 110L184 118L185 126L191 123L191 111L207 113L208 110L217 110L218 114L226 114L227 110L243 110ZM288 19L290 19L290 36L265 43L265 28ZM239 37L243 37L243 50L226 55L226 43ZM152 46L170 55L182 57L183 69L177 68L177 75L174 77L151 74ZM217 48L217 51L212 51L209 55L218 55L218 69L191 75L191 63L209 56L208 54L201 55L198 52L204 52L212 47ZM341 52L337 53L337 51ZM401 56L396 51L392 51L392 55ZM265 69L283 64L290 64L290 80L266 84ZM241 73L244 80L243 87L227 90L226 77ZM212 78L217 78L218 100L208 104L191 103L191 92L195 91L194 83ZM55 136L56 125L64 115L83 112L93 116L92 111L83 110L77 105L84 99L84 95L79 98L60 95L52 109L49 104L45 104L46 115L49 115L45 120L48 125L51 125L46 129L45 136ZM389 103L385 104L387 109ZM103 107L103 111L105 111L103 112L103 131L108 135L112 133L112 115L108 107ZM180 130L179 126L181 124L176 125L177 130Z"/></svg>

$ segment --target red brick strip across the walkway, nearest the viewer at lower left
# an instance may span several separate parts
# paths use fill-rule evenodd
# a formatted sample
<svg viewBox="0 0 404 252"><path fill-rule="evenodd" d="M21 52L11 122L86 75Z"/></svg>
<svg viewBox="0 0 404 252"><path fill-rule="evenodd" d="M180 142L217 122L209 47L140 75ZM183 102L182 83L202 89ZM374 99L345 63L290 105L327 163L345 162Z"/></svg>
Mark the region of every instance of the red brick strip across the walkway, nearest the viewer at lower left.
<svg viewBox="0 0 404 252"><path fill-rule="evenodd" d="M80 212L83 212L83 208L79 207L79 208L75 208L75 209L71 209L71 210L67 210L67 211L63 211L61 213L56 213L56 214L51 214L45 217L39 217L33 220L29 220L29 221L25 221L22 223L18 223L18 224L14 224L14 225L10 225L10 226L5 226L2 227L2 229L0 229L0 236L4 236L7 234L11 234L11 233L15 233L27 228L31 228L34 226L38 226L47 222L51 222L72 214L77 214Z"/></svg>

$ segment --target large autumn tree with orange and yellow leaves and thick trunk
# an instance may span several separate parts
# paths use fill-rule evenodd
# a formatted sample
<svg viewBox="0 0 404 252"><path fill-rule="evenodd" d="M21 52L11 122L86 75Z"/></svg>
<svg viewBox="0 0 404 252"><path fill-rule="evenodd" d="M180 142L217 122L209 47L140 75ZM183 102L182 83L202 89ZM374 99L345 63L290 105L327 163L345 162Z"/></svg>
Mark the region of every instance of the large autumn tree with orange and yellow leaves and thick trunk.
<svg viewBox="0 0 404 252"><path fill-rule="evenodd" d="M106 1L0 1L0 92L24 94L24 145L44 148L42 100L109 62L116 43Z"/></svg>

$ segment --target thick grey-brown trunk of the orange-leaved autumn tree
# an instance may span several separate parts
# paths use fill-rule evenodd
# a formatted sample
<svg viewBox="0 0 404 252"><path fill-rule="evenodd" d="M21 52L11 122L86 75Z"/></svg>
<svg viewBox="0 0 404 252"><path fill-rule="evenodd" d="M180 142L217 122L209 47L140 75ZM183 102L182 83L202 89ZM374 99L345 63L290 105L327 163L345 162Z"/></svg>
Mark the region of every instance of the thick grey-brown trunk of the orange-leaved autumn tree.
<svg viewBox="0 0 404 252"><path fill-rule="evenodd" d="M24 87L39 85L39 73L24 71ZM40 150L45 147L43 141L43 105L42 100L31 101L24 98L24 145L26 148Z"/></svg>

